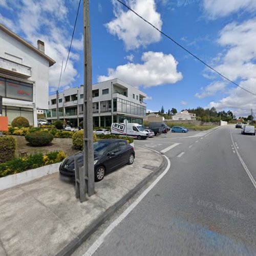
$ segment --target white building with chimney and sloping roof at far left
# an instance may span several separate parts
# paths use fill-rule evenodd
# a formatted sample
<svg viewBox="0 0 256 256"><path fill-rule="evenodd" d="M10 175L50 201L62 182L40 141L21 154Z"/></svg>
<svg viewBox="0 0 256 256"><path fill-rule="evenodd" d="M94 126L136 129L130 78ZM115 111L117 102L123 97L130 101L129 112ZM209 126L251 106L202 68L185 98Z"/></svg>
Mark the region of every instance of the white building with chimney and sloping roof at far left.
<svg viewBox="0 0 256 256"><path fill-rule="evenodd" d="M37 126L37 109L48 109L49 67L55 61L45 54L44 42L38 49L0 24L0 96L3 116L8 122L26 117Z"/></svg>

